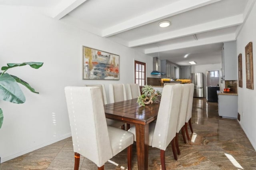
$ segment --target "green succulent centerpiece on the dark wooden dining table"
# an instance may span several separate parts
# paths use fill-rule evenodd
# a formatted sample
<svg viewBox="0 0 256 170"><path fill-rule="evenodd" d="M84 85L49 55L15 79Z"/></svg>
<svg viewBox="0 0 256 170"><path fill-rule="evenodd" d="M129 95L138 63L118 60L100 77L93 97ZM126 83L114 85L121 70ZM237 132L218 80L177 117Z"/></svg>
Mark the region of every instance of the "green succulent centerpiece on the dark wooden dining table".
<svg viewBox="0 0 256 170"><path fill-rule="evenodd" d="M153 89L151 85L144 85L141 89L142 95L138 97L137 103L141 106L149 105L152 103L160 103L161 93Z"/></svg>

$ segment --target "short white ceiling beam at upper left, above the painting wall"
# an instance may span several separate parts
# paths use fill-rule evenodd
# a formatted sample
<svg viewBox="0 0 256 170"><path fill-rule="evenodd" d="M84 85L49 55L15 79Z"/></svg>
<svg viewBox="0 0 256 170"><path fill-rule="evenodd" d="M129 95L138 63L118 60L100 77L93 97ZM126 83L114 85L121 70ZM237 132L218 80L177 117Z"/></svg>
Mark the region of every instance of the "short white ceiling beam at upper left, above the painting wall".
<svg viewBox="0 0 256 170"><path fill-rule="evenodd" d="M52 11L52 18L60 20L86 0L62 0Z"/></svg>

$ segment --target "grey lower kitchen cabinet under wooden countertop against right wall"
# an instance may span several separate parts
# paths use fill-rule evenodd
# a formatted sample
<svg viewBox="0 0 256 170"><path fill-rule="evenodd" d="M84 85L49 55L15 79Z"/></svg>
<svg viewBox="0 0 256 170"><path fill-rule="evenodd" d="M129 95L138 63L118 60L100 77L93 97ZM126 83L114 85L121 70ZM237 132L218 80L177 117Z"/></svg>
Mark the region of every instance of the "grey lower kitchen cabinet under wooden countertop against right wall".
<svg viewBox="0 0 256 170"><path fill-rule="evenodd" d="M238 95L218 93L218 112L222 118L236 119L238 113Z"/></svg>

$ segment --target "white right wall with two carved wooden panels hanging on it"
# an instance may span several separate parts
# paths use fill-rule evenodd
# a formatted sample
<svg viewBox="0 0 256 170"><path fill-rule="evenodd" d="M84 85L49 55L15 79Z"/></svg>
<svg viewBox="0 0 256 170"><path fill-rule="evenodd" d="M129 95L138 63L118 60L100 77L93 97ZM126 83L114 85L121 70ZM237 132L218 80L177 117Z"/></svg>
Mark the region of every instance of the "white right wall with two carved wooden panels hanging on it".
<svg viewBox="0 0 256 170"><path fill-rule="evenodd" d="M254 149L256 149L256 4L252 8L238 38L236 40L237 55L242 53L242 75L243 87L238 87L238 113L241 115L240 125L249 138ZM254 90L246 89L246 68L244 47L252 42L253 69L254 69Z"/></svg>

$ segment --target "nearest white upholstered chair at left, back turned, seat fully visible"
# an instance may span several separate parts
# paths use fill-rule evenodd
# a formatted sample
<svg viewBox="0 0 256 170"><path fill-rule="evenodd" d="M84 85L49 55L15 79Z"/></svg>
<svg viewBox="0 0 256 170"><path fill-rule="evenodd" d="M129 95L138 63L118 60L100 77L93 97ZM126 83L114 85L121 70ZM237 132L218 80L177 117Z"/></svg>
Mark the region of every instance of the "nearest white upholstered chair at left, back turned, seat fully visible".
<svg viewBox="0 0 256 170"><path fill-rule="evenodd" d="M80 154L94 162L98 170L110 158L128 147L128 169L131 169L133 135L107 126L99 87L65 87L72 142L74 169L78 170Z"/></svg>

